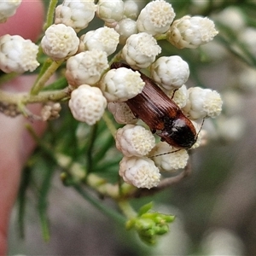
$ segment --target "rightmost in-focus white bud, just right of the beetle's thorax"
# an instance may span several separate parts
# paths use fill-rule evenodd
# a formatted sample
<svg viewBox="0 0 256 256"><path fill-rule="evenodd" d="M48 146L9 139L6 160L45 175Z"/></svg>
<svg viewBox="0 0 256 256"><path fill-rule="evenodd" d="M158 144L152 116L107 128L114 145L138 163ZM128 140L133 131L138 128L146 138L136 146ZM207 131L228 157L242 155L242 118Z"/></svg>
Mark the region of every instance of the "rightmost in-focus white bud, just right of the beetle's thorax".
<svg viewBox="0 0 256 256"><path fill-rule="evenodd" d="M183 111L190 119L215 118L221 113L223 102L216 90L191 87L188 92L189 99Z"/></svg>

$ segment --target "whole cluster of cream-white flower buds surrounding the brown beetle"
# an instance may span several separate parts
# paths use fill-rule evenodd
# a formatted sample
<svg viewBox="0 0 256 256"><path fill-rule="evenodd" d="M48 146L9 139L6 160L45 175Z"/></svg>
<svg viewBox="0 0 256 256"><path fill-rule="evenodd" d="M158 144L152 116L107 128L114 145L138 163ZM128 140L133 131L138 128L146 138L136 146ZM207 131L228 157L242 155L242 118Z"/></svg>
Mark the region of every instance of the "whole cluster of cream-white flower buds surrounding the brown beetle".
<svg viewBox="0 0 256 256"><path fill-rule="evenodd" d="M172 4L164 0L148 3L141 12L138 9L131 0L99 0L97 4L93 0L65 0L55 9L55 24L45 31L41 47L53 61L67 61L65 75L72 90L68 105L75 119L94 125L108 104L116 121L126 124L115 137L116 147L125 155L119 175L126 183L150 189L160 183L160 172L186 166L189 155L186 149L177 150L167 143L155 145L152 132L135 125L137 116L125 102L142 93L146 84L135 70L148 68L151 78L189 119L214 118L222 107L219 94L209 89L187 89L189 65L177 55L157 59L161 52L157 38L165 37L178 49L196 48L218 32L212 20L204 17L174 20ZM79 38L77 32L95 15L105 26ZM38 67L38 48L19 40L9 35L0 38L0 68L4 72L22 73ZM108 56L116 52L118 44L123 48L113 61L125 61L131 68L109 70ZM164 154L170 151L174 153Z"/></svg>

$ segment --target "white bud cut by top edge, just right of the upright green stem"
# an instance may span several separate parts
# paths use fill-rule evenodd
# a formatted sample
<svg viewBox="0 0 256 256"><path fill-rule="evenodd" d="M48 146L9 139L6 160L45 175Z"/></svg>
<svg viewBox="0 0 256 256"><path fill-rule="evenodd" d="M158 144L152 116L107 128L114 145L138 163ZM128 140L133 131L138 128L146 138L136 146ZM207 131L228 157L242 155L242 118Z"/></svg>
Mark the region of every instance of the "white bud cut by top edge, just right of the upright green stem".
<svg viewBox="0 0 256 256"><path fill-rule="evenodd" d="M94 0L65 0L55 9L55 24L72 26L76 32L79 32L89 25L95 12Z"/></svg>

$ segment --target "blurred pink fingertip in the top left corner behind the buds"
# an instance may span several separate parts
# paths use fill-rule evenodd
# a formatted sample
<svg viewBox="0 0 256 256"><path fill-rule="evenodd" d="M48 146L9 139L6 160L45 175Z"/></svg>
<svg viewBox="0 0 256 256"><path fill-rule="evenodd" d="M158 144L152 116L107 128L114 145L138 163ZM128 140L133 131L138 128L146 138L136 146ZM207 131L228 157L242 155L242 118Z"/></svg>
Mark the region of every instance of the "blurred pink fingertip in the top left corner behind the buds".
<svg viewBox="0 0 256 256"><path fill-rule="evenodd" d="M44 23L44 4L41 0L22 0L16 14L0 24L0 36L20 35L36 41Z"/></svg>

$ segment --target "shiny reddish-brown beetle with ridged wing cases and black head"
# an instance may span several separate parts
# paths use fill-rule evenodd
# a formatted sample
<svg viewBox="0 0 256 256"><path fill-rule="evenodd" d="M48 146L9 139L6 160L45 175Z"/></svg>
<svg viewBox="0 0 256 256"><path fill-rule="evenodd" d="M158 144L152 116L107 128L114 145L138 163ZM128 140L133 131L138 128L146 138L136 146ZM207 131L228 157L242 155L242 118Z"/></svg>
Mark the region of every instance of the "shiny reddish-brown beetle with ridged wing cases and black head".
<svg viewBox="0 0 256 256"><path fill-rule="evenodd" d="M111 68L119 67L131 68L121 62L114 62L111 65ZM145 85L141 93L125 102L131 108L131 112L142 119L161 141L175 148L191 148L197 139L195 126L153 79L139 73Z"/></svg>

